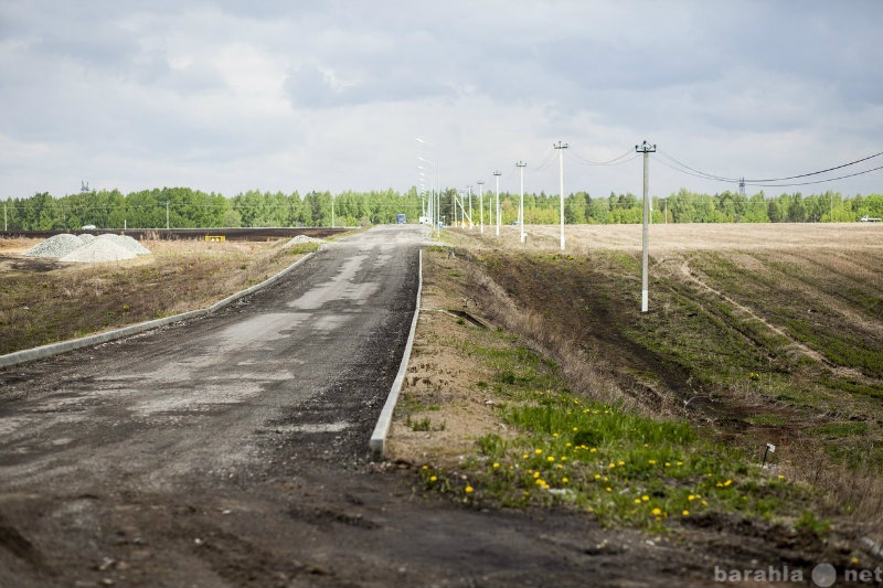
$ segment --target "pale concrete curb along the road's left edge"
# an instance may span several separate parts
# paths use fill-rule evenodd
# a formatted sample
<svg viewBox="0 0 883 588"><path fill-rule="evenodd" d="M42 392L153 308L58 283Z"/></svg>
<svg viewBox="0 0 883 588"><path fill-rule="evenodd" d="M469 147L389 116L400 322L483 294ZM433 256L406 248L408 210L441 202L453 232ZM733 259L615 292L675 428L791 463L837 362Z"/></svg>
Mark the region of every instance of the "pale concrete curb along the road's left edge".
<svg viewBox="0 0 883 588"><path fill-rule="evenodd" d="M319 249L323 247L320 246ZM211 314L223 307L230 304L231 302L238 300L244 296L248 296L262 288L266 288L267 286L277 282L280 280L286 274L295 269L297 266L312 257L315 254L308 253L287 268L283 269L275 276L270 276L266 280L252 286L241 292L236 292L232 296L224 298L212 304L211 307L203 308L200 310L191 310L190 312L183 312L181 314L173 314L171 317L163 317L162 319L156 319L152 321L147 322L139 322L138 324L130 324L129 327L123 327L121 329L115 329L113 331L107 331L104 333L98 333L95 335L87 335L79 339L72 339L71 341L62 341L61 343L52 343L50 345L41 345L39 348L26 349L22 351L17 351L14 353L8 353L6 355L0 355L0 368L9 367L11 365L18 365L20 363L31 362L34 360L42 360L45 357L51 357L52 355L58 355L60 353L66 353L68 351L74 351L76 349L88 348L92 345L98 345L100 343L106 343L108 341L113 341L115 339L121 339L124 336L129 336L138 333L142 333L145 331L150 331L151 329L158 329L159 327L164 327L166 324L170 324L172 322L184 321L188 319L194 319L196 317L203 317L205 314Z"/></svg>

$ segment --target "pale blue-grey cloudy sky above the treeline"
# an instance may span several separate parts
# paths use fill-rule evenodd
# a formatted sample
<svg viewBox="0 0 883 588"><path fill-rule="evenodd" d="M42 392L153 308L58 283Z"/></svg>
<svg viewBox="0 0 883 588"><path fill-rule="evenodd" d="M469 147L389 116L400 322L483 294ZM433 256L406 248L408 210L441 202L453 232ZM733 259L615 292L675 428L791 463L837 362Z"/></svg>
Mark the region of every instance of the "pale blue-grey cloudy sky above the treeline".
<svg viewBox="0 0 883 588"><path fill-rule="evenodd" d="M0 197L487 192L494 171L557 194L562 167L566 193L640 194L642 141L653 195L883 193L883 170L781 185L883 156L755 185L883 151L881 31L879 0L10 0Z"/></svg>

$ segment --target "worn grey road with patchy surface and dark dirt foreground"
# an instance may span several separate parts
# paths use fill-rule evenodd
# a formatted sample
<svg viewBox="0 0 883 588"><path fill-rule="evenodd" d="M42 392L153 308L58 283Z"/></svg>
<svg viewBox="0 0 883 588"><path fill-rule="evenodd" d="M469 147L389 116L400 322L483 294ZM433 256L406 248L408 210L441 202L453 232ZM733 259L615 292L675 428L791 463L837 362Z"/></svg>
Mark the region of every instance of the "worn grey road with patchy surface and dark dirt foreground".
<svg viewBox="0 0 883 588"><path fill-rule="evenodd" d="M341 239L214 316L1 371L0 586L713 585L726 537L480 511L366 460L422 239Z"/></svg>

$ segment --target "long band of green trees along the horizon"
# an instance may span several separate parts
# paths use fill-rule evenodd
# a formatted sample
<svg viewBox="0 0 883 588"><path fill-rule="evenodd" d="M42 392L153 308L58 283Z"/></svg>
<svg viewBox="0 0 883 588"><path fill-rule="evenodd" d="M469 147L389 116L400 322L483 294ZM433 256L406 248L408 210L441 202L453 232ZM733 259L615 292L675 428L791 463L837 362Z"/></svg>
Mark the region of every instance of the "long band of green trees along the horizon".
<svg viewBox="0 0 883 588"><path fill-rule="evenodd" d="M440 197L442 220L454 218L453 189ZM460 193L461 194L461 193ZM469 211L466 194L464 209ZM485 194L485 223L490 224L493 194ZM123 194L99 190L54 197L43 192L26 199L3 201L6 231L75 231L97 228L199 228L266 226L358 226L394 223L404 213L417 222L427 197L416 189L400 193L248 191L226 197L189 188L162 188ZM518 220L519 194L501 193L502 223ZM593 196L575 192L564 201L568 224L628 224L641 222L641 199L634 194ZM653 223L849 223L863 216L883 216L883 195L843 196L836 192L802 195L799 192L767 197L738 193L698 194L681 190L668 197L652 197ZM557 194L524 195L525 224L558 223ZM480 202L471 196L472 222L480 218ZM461 213L457 211L457 218Z"/></svg>

